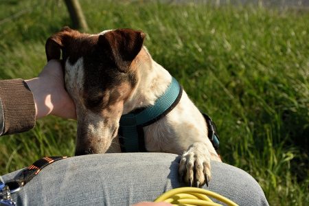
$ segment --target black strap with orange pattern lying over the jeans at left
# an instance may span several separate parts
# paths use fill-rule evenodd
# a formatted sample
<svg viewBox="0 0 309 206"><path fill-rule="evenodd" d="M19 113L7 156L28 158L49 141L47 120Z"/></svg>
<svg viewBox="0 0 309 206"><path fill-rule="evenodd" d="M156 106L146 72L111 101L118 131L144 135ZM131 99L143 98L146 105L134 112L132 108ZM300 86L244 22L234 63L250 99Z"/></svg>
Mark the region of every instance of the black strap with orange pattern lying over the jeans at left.
<svg viewBox="0 0 309 206"><path fill-rule="evenodd" d="M18 176L16 176L14 179L5 182L5 185L7 185L10 188L10 192L14 193L17 192L23 187L25 184L27 184L38 172L40 172L43 168L45 168L47 165L61 160L66 159L67 157L43 157L39 159L38 161L34 162L32 165L30 165L28 168L25 168Z"/></svg>

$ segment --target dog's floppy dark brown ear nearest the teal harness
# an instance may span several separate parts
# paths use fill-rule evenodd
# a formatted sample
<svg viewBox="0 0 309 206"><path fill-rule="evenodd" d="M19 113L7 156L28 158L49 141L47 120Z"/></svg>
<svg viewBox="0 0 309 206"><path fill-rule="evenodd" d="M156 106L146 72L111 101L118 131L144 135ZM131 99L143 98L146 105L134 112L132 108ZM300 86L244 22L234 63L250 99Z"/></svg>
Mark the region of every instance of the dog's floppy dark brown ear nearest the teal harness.
<svg viewBox="0 0 309 206"><path fill-rule="evenodd" d="M99 36L100 47L109 49L120 71L126 73L131 62L141 51L146 34L137 30L121 29Z"/></svg>

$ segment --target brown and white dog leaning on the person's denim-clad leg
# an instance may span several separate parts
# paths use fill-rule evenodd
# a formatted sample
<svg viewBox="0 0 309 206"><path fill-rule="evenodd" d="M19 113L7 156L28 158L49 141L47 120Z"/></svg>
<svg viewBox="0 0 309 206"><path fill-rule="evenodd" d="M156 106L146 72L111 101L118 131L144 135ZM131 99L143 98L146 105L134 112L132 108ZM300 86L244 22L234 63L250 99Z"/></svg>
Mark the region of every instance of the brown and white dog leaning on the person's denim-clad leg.
<svg viewBox="0 0 309 206"><path fill-rule="evenodd" d="M170 73L144 46L145 36L130 29L84 34L63 27L47 39L47 61L60 60L62 53L65 87L76 104L76 155L121 152L117 133L122 115L154 105L171 84ZM143 132L148 152L181 155L181 180L208 185L210 160L221 159L207 138L202 113L185 91L171 111Z"/></svg>

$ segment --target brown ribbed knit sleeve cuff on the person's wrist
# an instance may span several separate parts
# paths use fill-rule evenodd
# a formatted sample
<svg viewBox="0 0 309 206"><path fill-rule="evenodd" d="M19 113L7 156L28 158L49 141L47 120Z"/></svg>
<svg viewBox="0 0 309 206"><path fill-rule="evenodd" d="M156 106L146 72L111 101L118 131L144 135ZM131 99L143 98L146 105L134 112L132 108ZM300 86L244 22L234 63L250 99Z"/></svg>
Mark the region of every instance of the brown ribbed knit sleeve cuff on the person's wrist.
<svg viewBox="0 0 309 206"><path fill-rule="evenodd" d="M0 104L0 135L22 133L34 127L36 108L25 81L1 80Z"/></svg>

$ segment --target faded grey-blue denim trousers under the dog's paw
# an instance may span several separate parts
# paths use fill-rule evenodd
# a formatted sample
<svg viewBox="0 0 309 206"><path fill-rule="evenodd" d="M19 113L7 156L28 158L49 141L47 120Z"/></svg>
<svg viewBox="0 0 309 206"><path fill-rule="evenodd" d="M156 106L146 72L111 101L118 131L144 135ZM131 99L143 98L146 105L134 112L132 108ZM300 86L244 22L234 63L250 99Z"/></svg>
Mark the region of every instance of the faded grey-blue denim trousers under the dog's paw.
<svg viewBox="0 0 309 206"><path fill-rule="evenodd" d="M48 165L19 192L18 205L133 205L154 201L185 186L178 179L179 157L164 153L120 153L70 157ZM5 174L12 179L20 172ZM225 163L211 162L206 190L239 205L268 205L252 176Z"/></svg>

